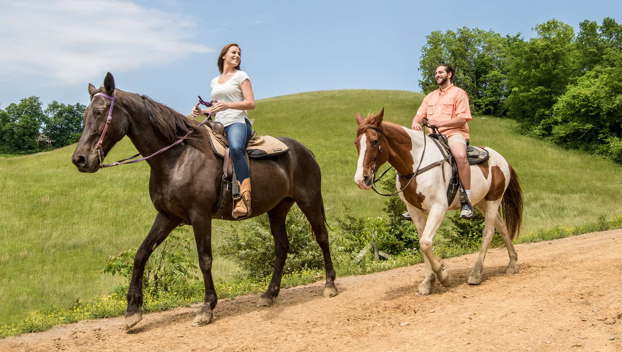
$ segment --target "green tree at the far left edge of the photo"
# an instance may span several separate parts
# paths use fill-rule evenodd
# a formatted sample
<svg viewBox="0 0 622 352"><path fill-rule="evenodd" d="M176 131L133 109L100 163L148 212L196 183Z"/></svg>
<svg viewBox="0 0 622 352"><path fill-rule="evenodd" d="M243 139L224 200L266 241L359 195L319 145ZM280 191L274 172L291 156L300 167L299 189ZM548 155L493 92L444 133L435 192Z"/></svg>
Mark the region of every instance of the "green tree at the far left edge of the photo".
<svg viewBox="0 0 622 352"><path fill-rule="evenodd" d="M23 98L4 109L0 128L0 151L7 154L27 154L37 151L37 137L44 114L39 97Z"/></svg>

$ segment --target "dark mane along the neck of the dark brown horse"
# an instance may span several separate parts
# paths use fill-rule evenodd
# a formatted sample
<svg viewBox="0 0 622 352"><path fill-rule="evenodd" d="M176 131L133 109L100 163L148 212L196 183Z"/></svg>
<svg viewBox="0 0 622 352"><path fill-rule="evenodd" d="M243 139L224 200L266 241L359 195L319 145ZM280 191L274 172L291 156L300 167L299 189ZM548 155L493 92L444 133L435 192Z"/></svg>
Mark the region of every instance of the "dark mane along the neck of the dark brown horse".
<svg viewBox="0 0 622 352"><path fill-rule="evenodd" d="M209 136L205 127L197 128L197 121L188 119L165 104L152 100L149 96L141 95L141 98L145 103L149 120L151 120L156 133L165 142L173 144L178 139L183 138L188 131L193 131L192 134L185 137L184 142L203 154L211 153Z"/></svg>

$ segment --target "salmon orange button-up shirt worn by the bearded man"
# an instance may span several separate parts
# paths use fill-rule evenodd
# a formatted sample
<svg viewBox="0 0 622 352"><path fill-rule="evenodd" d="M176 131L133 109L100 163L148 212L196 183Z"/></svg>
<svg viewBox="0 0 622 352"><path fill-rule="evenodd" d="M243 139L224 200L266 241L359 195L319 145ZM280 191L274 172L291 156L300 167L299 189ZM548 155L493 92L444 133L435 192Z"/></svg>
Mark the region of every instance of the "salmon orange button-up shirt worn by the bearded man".
<svg viewBox="0 0 622 352"><path fill-rule="evenodd" d="M468 95L457 86L450 85L445 90L437 89L425 96L415 118L435 118L440 121L447 121L453 118L464 118L466 121L471 119L471 108L468 105ZM459 127L439 127L439 132L443 136L450 137L454 134L461 134L468 141L468 124Z"/></svg>

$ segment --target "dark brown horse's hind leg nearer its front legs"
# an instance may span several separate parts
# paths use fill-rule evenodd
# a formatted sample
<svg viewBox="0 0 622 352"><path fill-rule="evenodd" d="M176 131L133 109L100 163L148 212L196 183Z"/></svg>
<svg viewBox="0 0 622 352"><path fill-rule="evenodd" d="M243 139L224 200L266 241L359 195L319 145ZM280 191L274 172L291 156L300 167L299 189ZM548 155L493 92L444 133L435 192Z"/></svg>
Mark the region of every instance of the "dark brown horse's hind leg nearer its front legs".
<svg viewBox="0 0 622 352"><path fill-rule="evenodd" d="M261 294L257 307L270 307L272 301L279 295L281 290L281 279L283 277L283 267L285 266L285 258L289 251L289 239L287 239L287 230L285 229L285 218L289 208L294 205L292 198L284 198L272 210L268 211L270 220L270 231L274 238L274 251L276 253L276 261L274 262L274 271L272 279L266 292Z"/></svg>

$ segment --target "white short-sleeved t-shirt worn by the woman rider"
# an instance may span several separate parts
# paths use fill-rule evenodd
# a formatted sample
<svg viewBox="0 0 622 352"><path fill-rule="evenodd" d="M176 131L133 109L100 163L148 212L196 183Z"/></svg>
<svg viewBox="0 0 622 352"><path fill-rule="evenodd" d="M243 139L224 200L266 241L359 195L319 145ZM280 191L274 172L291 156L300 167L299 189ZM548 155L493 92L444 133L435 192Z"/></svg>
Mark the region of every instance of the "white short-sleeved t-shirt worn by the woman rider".
<svg viewBox="0 0 622 352"><path fill-rule="evenodd" d="M236 71L233 76L229 78L223 84L218 84L218 78L216 76L211 80L211 99L224 101L225 103L239 103L244 101L244 95L242 94L242 82L248 80L248 75L244 71ZM216 113L214 121L222 123L224 126L229 126L232 123L244 123L244 119L248 118L246 110L234 110L226 109Z"/></svg>

